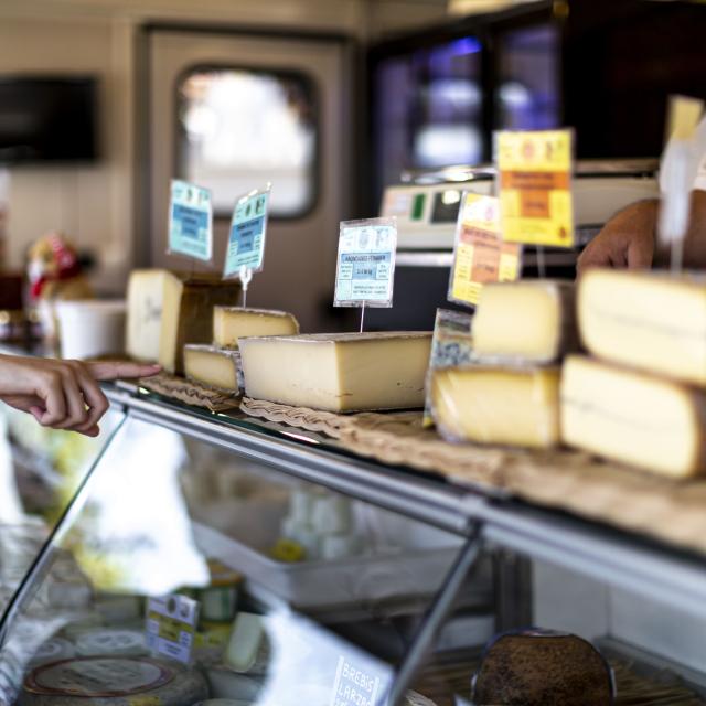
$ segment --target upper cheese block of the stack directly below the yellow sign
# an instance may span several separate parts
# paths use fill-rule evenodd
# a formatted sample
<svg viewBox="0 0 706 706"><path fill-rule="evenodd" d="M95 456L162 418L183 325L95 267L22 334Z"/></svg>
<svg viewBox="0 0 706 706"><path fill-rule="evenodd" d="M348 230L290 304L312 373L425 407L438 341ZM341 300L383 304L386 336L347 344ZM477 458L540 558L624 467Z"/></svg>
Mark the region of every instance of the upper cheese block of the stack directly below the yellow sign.
<svg viewBox="0 0 706 706"><path fill-rule="evenodd" d="M483 287L473 349L483 357L553 363L578 345L574 282L523 280Z"/></svg>

